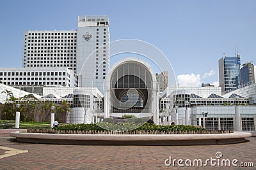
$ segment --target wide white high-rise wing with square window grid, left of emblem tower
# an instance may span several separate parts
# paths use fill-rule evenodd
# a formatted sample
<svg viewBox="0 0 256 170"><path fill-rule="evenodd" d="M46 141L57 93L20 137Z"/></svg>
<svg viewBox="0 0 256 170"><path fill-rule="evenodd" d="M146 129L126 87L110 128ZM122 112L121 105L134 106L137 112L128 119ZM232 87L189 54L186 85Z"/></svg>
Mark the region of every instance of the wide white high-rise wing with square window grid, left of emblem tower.
<svg viewBox="0 0 256 170"><path fill-rule="evenodd" d="M77 30L24 31L22 67L71 67L76 73Z"/></svg>

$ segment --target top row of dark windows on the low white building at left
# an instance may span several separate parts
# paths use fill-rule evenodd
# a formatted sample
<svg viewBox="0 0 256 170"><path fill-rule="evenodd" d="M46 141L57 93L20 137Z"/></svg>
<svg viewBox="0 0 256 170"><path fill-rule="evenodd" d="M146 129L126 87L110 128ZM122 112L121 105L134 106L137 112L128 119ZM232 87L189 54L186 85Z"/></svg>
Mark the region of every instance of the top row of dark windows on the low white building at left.
<svg viewBox="0 0 256 170"><path fill-rule="evenodd" d="M0 72L0 76L65 76L66 72ZM68 74L69 75L69 74Z"/></svg>

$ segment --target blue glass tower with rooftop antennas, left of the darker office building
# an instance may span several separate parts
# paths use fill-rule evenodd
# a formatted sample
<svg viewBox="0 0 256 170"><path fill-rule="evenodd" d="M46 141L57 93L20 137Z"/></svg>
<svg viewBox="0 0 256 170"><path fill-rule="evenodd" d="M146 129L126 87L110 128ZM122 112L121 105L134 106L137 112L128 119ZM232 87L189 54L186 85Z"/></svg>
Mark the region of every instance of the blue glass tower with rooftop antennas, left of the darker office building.
<svg viewBox="0 0 256 170"><path fill-rule="evenodd" d="M222 57L219 60L219 81L221 92L234 90L240 85L240 55Z"/></svg>

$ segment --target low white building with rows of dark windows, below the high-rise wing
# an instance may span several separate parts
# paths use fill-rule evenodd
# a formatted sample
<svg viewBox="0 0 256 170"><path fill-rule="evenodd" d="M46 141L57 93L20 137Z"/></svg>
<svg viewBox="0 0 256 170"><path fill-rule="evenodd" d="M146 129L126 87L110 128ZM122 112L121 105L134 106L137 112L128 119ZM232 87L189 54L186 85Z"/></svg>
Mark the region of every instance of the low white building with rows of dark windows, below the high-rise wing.
<svg viewBox="0 0 256 170"><path fill-rule="evenodd" d="M0 80L13 87L77 87L78 83L77 74L68 67L1 67Z"/></svg>

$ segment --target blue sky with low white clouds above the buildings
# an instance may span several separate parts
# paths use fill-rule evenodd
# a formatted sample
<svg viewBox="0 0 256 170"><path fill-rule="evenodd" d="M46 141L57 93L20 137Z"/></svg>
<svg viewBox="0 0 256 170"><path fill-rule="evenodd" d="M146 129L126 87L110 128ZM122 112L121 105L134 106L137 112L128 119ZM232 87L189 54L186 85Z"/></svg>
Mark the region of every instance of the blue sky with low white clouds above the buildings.
<svg viewBox="0 0 256 170"><path fill-rule="evenodd" d="M180 86L218 85L218 60L255 63L256 1L1 1L0 67L21 67L27 30L77 29L78 15L108 15L111 41L140 39L159 48ZM256 71L256 68L255 68Z"/></svg>

